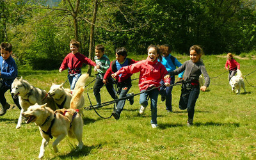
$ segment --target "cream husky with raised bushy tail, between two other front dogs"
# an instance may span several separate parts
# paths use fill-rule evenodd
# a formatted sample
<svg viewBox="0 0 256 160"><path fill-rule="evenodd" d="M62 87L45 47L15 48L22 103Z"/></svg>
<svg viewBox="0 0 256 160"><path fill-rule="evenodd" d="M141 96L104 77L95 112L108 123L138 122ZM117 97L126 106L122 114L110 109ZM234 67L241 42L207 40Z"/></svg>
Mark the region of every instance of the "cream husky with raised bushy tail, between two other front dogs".
<svg viewBox="0 0 256 160"><path fill-rule="evenodd" d="M51 89L48 92L49 97L52 97L56 102L58 108L70 108L70 100L72 99L72 93L76 93L77 89L81 86L85 86L85 81L89 77L88 74L82 74L77 80L76 86L74 90L70 91L69 89L63 88L64 83L62 84L54 84L52 83ZM79 105L77 105L77 109L83 108L84 106L84 97L83 95L80 97Z"/></svg>

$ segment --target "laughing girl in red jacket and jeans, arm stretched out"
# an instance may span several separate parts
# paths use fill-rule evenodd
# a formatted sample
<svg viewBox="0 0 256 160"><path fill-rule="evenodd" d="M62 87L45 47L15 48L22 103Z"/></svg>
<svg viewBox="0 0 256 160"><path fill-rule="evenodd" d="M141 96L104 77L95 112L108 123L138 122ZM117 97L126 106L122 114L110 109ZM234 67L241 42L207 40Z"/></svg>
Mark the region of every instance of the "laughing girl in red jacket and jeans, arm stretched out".
<svg viewBox="0 0 256 160"><path fill-rule="evenodd" d="M120 70L112 74L112 77L116 77L119 74L134 74L140 72L139 88L140 88L140 114L143 114L148 106L147 97L150 97L151 108L151 125L153 128L157 127L157 97L159 94L160 81L168 74L166 68L157 61L157 58L161 60L159 56L159 48L156 45L148 46L147 60L139 61L135 64L122 67ZM165 86L170 86L170 77L164 80ZM156 87L156 88L154 88ZM148 92L145 92L149 90Z"/></svg>

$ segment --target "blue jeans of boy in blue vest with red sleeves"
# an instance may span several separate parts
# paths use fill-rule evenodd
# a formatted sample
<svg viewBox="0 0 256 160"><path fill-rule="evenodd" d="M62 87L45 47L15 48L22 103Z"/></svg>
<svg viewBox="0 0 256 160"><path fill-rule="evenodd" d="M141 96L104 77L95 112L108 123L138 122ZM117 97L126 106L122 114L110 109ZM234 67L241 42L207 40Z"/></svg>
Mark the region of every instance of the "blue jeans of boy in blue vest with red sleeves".
<svg viewBox="0 0 256 160"><path fill-rule="evenodd" d="M131 86L132 86L132 84L123 84L122 86L120 86L122 88L122 90L120 90L119 99L127 97L127 93L129 92ZM124 108L124 105L125 105L125 99L124 100L119 100L117 102L115 111L117 113L119 113L119 115L122 112L122 110Z"/></svg>

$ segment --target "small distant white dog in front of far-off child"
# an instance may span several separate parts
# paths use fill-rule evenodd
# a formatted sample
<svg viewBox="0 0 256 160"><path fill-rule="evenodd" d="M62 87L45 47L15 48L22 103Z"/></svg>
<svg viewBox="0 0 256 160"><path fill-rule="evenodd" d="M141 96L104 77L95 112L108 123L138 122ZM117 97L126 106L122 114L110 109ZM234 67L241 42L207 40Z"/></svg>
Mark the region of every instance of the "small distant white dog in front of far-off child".
<svg viewBox="0 0 256 160"><path fill-rule="evenodd" d="M233 76L230 79L229 84L230 84L230 86L232 88L232 91L234 93L235 93L235 89L237 89L236 90L237 95L240 94L241 87L244 89L244 92L246 92L243 75L242 75L241 70L239 70L239 69L237 69L237 76Z"/></svg>

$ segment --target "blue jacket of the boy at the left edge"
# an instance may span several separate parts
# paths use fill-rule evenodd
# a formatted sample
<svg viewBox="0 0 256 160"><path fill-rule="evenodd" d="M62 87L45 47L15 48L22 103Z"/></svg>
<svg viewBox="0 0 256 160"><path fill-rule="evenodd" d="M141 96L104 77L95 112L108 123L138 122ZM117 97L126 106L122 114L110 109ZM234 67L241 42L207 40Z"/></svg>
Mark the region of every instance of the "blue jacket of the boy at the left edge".
<svg viewBox="0 0 256 160"><path fill-rule="evenodd" d="M4 84L10 87L14 79L18 76L18 70L15 60L13 60L11 56L7 60L4 60L3 57L0 57L0 69L0 77L3 79Z"/></svg>

